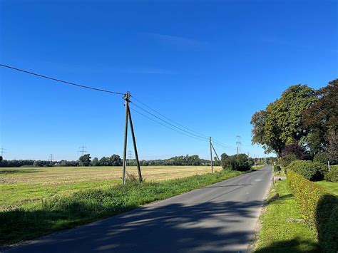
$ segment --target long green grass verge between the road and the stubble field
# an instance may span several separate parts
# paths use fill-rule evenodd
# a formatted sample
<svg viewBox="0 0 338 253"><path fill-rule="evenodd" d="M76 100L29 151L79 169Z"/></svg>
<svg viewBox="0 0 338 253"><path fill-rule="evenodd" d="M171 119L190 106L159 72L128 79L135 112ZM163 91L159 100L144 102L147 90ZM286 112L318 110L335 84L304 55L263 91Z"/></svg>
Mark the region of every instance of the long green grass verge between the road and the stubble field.
<svg viewBox="0 0 338 253"><path fill-rule="evenodd" d="M240 174L223 170L160 182L130 182L124 186L113 185L57 195L43 202L35 202L34 205L5 210L0 212L0 244L34 239L43 234L100 220Z"/></svg>

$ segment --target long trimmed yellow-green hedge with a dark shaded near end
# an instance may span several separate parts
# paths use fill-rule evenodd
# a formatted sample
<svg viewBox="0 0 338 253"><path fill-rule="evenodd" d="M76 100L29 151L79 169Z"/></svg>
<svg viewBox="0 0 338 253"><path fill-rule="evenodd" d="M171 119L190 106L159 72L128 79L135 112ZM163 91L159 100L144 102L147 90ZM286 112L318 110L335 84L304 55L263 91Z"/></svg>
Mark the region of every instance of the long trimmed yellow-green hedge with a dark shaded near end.
<svg viewBox="0 0 338 253"><path fill-rule="evenodd" d="M323 251L337 253L338 198L292 170L287 171L287 181Z"/></svg>

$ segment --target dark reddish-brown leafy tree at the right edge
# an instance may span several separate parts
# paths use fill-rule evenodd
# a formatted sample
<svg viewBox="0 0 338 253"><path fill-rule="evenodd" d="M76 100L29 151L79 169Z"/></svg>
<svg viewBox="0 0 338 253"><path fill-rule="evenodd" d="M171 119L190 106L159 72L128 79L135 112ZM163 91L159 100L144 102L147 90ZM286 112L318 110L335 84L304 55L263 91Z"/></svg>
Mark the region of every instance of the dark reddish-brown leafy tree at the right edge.
<svg viewBox="0 0 338 253"><path fill-rule="evenodd" d="M338 130L338 79L314 95L317 100L304 110L304 128L309 132L306 138L308 148L312 153L318 153L329 148L330 137Z"/></svg>

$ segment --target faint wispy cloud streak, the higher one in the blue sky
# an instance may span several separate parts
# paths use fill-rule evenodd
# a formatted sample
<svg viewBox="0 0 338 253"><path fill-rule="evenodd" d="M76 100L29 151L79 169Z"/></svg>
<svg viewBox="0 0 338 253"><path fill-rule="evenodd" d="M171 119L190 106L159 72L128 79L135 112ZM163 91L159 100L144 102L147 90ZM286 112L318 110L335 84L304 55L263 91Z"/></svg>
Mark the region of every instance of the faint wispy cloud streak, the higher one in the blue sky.
<svg viewBox="0 0 338 253"><path fill-rule="evenodd" d="M153 38L155 41L159 41L160 43L168 43L174 46L188 46L193 48L200 48L208 45L205 41L200 41L193 38L186 38L182 36L161 34L161 33L140 33L144 36L148 36L149 38Z"/></svg>

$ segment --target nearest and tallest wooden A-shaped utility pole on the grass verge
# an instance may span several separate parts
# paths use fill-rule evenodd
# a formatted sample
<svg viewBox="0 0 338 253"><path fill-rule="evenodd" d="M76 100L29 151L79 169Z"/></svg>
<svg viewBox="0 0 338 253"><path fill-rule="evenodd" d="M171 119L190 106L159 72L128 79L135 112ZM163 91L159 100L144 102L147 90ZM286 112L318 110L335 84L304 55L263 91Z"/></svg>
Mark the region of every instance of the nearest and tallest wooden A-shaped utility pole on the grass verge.
<svg viewBox="0 0 338 253"><path fill-rule="evenodd" d="M126 101L126 122L125 122L125 128L124 128L124 145L123 145L123 172L122 172L122 182L123 185L126 185L126 175L127 175L127 140L128 140L128 120L130 123L130 131L131 131L131 137L133 138L133 146L134 146L134 152L135 152L135 160L138 167L138 181L142 182L142 174L140 171L140 161L138 160L138 148L136 146L136 140L135 140L135 133L133 128L133 121L131 120L131 114L130 114L130 108L129 108L129 102L130 102L130 92L127 92L123 99Z"/></svg>

